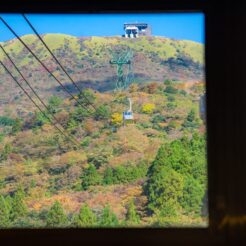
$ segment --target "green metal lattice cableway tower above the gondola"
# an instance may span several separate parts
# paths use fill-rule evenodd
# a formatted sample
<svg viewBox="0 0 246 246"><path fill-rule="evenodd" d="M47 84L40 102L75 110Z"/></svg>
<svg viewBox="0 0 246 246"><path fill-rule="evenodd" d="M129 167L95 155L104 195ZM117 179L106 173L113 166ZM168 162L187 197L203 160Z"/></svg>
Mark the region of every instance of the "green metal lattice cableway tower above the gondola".
<svg viewBox="0 0 246 246"><path fill-rule="evenodd" d="M115 64L117 66L117 81L115 84L115 90L121 91L127 88L127 86L132 82L132 50L121 51L120 53L113 53L112 59L109 61L110 64ZM124 65L127 68L124 70Z"/></svg>

